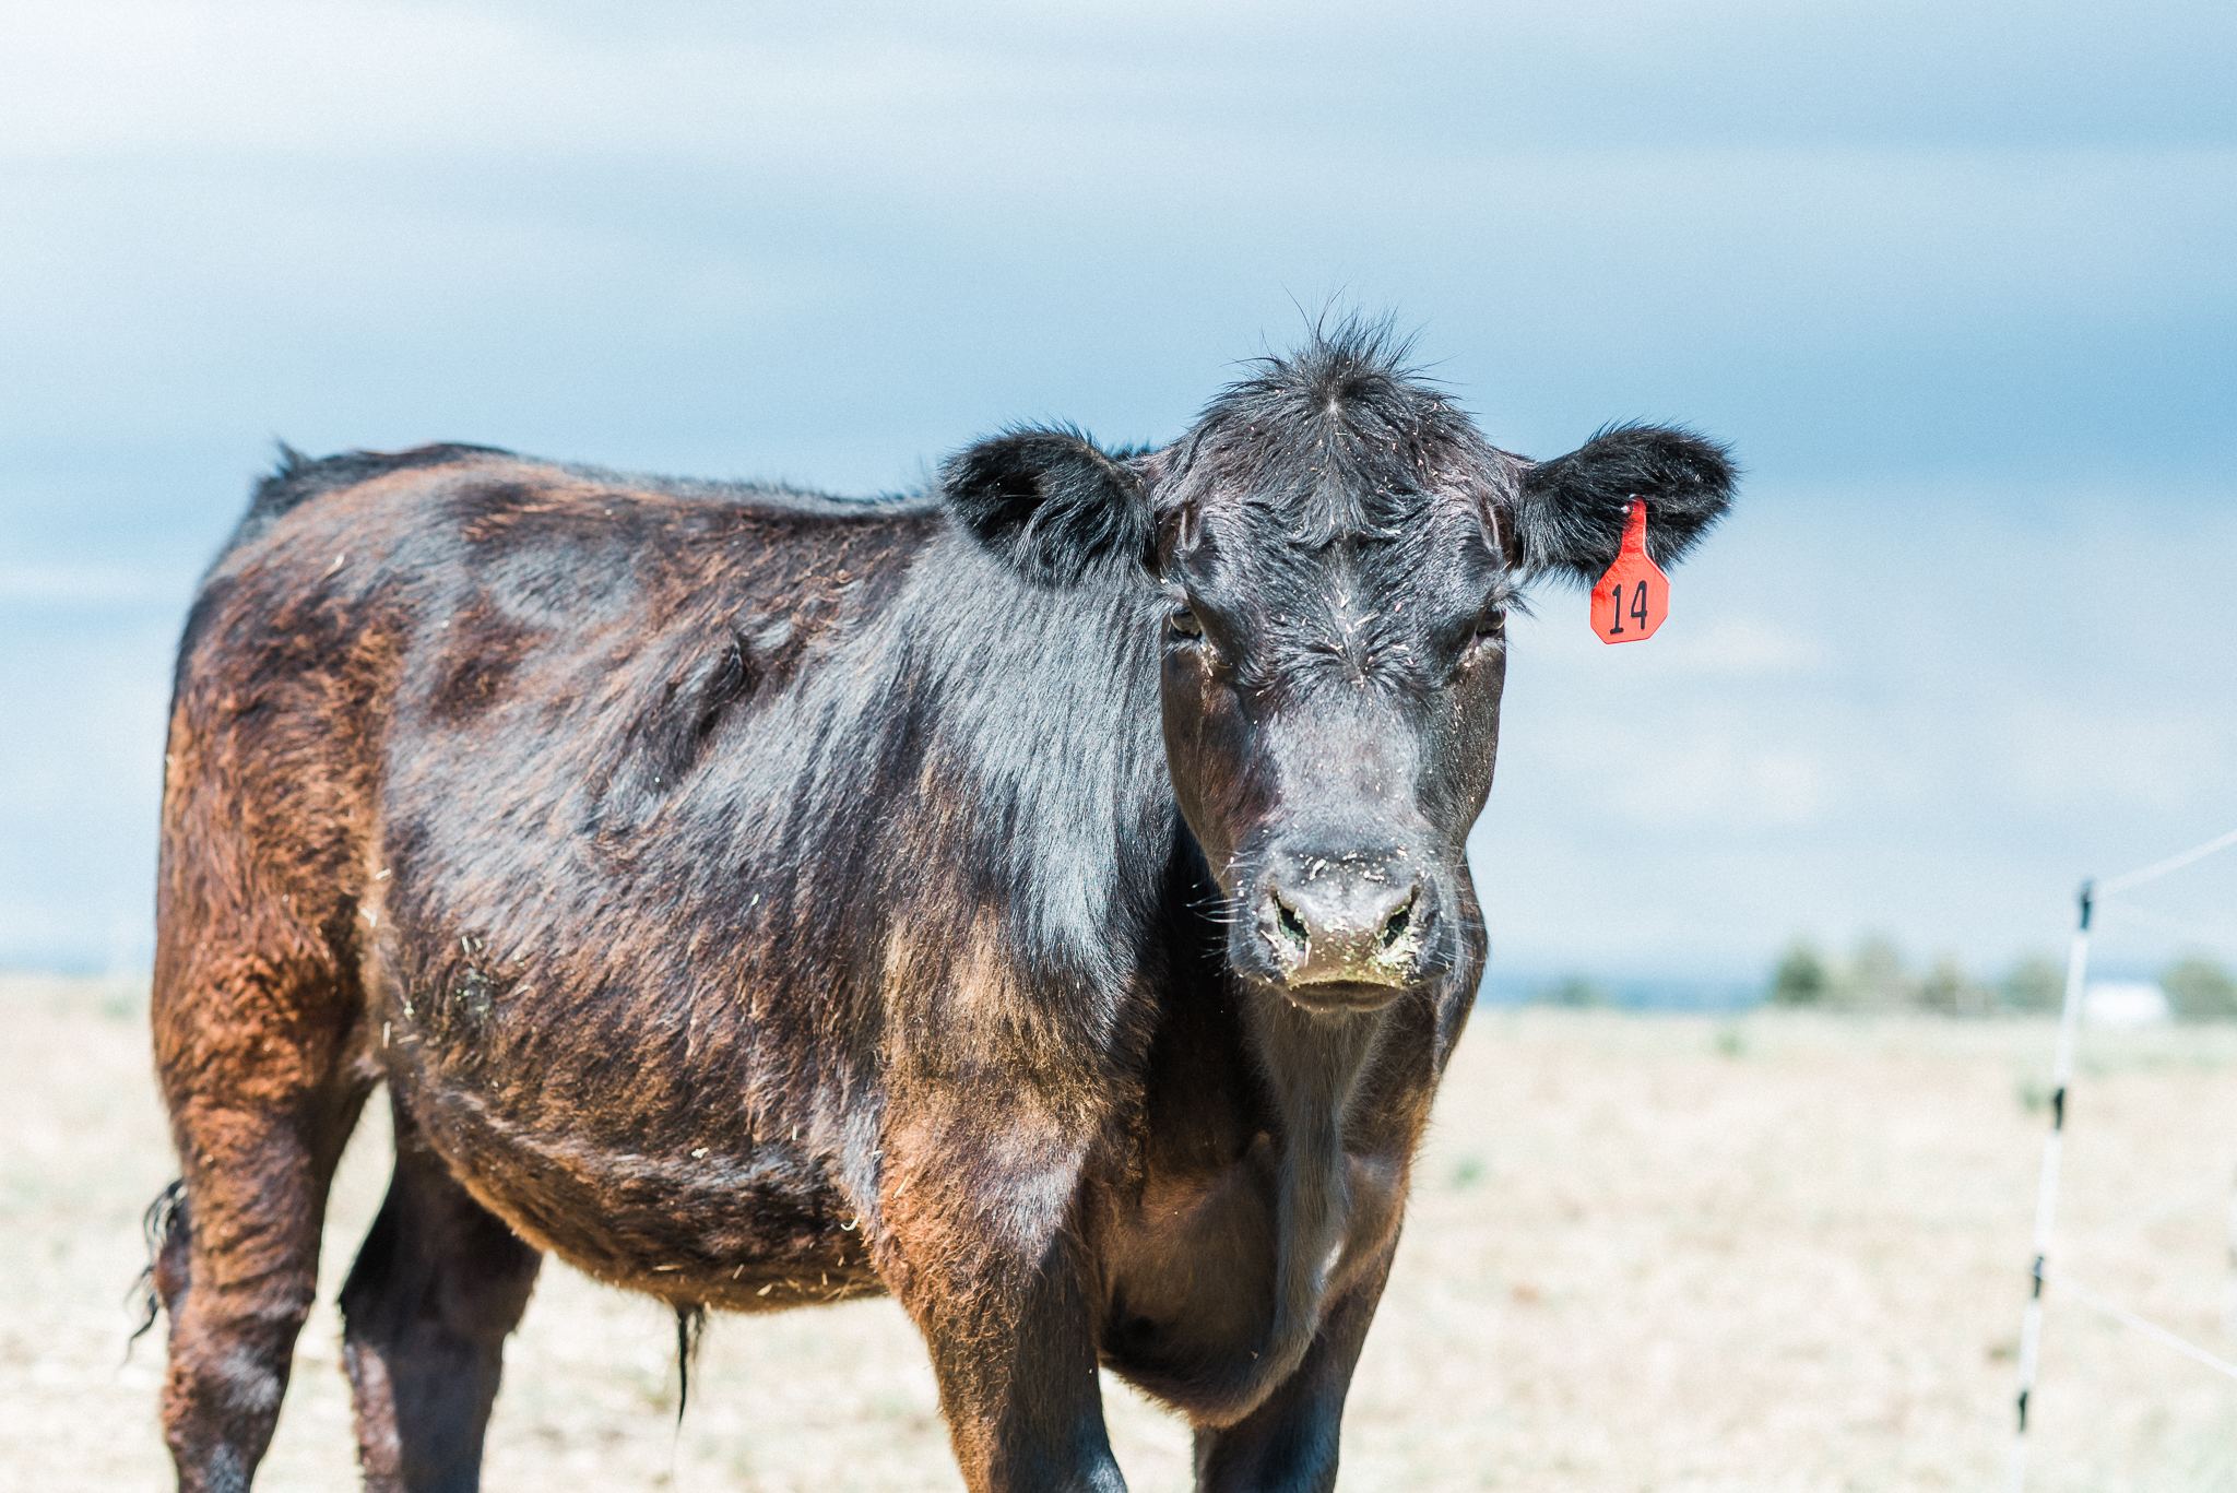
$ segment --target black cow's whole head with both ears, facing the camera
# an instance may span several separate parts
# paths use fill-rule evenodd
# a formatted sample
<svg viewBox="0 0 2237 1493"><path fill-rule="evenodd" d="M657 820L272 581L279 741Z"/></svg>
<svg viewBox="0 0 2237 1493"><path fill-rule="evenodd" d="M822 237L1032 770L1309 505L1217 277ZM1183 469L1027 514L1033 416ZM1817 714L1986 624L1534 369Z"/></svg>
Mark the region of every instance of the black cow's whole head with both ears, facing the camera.
<svg viewBox="0 0 2237 1493"><path fill-rule="evenodd" d="M942 479L957 519L1040 584L1163 591L1165 752L1228 895L1233 967L1297 1005L1374 1010L1472 942L1463 846L1521 584L1597 578L1633 497L1649 553L1673 560L1734 470L1700 436L1637 425L1512 457L1347 331L1266 358L1163 450L1027 430Z"/></svg>

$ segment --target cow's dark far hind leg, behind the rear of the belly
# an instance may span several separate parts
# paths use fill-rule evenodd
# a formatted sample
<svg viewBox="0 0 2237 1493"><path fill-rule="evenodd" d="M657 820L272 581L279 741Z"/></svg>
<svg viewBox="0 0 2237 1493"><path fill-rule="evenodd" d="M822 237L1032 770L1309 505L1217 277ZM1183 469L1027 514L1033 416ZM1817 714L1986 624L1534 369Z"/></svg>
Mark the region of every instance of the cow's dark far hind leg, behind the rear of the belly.
<svg viewBox="0 0 2237 1493"><path fill-rule="evenodd" d="M541 1256L459 1186L403 1104L394 1110L396 1177L342 1287L358 1457L378 1493L468 1491Z"/></svg>

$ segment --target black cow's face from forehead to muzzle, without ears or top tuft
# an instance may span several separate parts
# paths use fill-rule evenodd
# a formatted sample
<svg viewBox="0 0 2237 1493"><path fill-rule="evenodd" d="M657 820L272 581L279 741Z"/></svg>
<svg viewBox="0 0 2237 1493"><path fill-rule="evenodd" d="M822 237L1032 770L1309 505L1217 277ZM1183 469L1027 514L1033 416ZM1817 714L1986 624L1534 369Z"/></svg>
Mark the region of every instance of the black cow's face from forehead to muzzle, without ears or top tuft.
<svg viewBox="0 0 2237 1493"><path fill-rule="evenodd" d="M1463 844L1514 591L1499 533L1461 488L1309 517L1248 468L1195 477L1161 544L1165 754L1230 963L1302 1005L1382 1005L1450 974L1476 918Z"/></svg>

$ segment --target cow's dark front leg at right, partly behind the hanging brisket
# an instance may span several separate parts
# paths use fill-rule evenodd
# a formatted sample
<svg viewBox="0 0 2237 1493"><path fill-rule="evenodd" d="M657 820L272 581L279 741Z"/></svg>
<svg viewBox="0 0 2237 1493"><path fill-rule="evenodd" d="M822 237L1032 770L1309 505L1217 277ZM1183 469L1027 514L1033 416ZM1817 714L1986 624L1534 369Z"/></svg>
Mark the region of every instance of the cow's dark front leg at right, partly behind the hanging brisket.
<svg viewBox="0 0 2237 1493"><path fill-rule="evenodd" d="M1197 1428L1199 1493L1329 1493L1351 1370L1382 1300L1396 1240L1338 1296L1304 1361L1233 1426Z"/></svg>

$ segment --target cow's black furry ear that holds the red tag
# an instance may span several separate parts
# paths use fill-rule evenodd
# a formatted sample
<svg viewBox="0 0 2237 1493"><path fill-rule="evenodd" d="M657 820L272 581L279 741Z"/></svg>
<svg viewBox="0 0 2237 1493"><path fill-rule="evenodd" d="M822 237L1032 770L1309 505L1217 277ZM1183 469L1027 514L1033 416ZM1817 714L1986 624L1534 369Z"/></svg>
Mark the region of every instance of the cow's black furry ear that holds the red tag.
<svg viewBox="0 0 2237 1493"><path fill-rule="evenodd" d="M1684 555L1731 506L1738 472L1716 441L1667 425L1602 430L1566 457L1523 472L1514 535L1526 571L1568 571L1586 584L1615 564L1624 506L1646 501L1646 553Z"/></svg>

